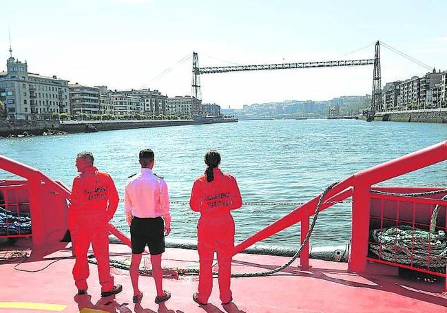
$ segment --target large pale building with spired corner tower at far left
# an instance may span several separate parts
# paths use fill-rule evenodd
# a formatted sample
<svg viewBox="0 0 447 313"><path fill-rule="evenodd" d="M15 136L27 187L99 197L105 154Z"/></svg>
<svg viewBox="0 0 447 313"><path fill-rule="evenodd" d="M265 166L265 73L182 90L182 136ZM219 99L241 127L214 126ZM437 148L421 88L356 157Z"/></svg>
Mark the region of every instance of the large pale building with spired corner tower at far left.
<svg viewBox="0 0 447 313"><path fill-rule="evenodd" d="M68 80L28 72L28 63L12 57L0 72L0 100L8 119L43 120L54 113L70 114Z"/></svg>

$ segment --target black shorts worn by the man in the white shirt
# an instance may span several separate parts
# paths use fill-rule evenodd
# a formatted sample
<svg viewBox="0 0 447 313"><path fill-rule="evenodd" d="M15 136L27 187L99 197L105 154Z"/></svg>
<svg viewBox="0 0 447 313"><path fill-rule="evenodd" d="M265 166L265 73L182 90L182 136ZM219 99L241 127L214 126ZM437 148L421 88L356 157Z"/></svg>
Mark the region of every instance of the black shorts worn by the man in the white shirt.
<svg viewBox="0 0 447 313"><path fill-rule="evenodd" d="M161 217L142 219L134 217L130 224L130 240L132 253L143 253L147 244L151 255L165 252L165 222Z"/></svg>

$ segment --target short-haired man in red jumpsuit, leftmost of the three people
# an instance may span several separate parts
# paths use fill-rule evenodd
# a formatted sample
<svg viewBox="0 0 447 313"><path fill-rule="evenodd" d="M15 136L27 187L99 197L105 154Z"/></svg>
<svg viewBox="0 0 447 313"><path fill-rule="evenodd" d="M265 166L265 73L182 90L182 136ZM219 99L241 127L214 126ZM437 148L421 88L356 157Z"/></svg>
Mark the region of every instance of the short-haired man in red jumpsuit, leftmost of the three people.
<svg viewBox="0 0 447 313"><path fill-rule="evenodd" d="M114 216L119 197L112 177L98 171L93 161L91 152L81 152L76 156L76 168L81 174L74 177L68 211L68 229L76 255L73 278L78 294L85 294L90 274L87 252L92 244L94 257L98 261L101 296L111 296L123 290L121 285L114 285L110 274L107 231L107 223Z"/></svg>

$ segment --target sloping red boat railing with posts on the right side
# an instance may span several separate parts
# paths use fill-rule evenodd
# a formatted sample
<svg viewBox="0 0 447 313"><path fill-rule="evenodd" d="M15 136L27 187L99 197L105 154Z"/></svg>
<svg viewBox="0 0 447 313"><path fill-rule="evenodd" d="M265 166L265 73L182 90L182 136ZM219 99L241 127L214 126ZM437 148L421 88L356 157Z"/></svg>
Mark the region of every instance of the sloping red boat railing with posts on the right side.
<svg viewBox="0 0 447 313"><path fill-rule="evenodd" d="M324 204L320 207L320 211L329 208L335 202L340 202L351 196L353 197L351 252L349 254L350 270L354 272L364 272L366 270L367 261L371 261L371 258L368 258L368 230L371 218L370 202L372 197L374 199L379 197L371 194L371 186L445 160L447 160L447 141L434 144L426 149L374 166L371 169L360 171L336 184L328 193L326 193L326 196L323 199ZM271 235L275 235L281 230L284 230L284 228L292 226L298 222L302 223L301 236L304 238L309 229L309 219L315 212L319 197L320 196L317 196L311 199L309 202L306 202L306 204L296 208L294 211L291 211L291 213L278 219L278 221L273 222L273 224L260 230L245 241L242 241L242 243L235 247L234 254L236 255L249 246L256 244L256 242L266 239ZM411 199L413 202L419 201L424 203L426 201L433 201L433 203L431 203L433 205L437 201L436 203L444 203L445 205L445 202L439 202L439 200L434 199L417 200L417 198L414 197ZM300 263L303 268L309 266L309 242L303 247L300 255ZM414 269L420 270L418 268Z"/></svg>

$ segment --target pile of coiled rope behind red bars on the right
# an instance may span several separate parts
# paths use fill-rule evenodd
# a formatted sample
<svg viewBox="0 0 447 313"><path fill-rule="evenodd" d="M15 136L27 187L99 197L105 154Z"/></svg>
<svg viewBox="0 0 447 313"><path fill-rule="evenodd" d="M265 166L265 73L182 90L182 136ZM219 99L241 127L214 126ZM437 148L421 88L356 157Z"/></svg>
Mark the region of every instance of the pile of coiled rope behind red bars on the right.
<svg viewBox="0 0 447 313"><path fill-rule="evenodd" d="M371 192L382 195L421 197L447 193L447 189L426 193L386 193L373 190ZM441 199L447 199L447 195ZM369 244L369 250L385 261L423 268L445 269L447 261L446 232L444 230L436 232L436 221L440 208L441 206L437 204L433 209L428 231L407 225L371 230L369 235L370 241L373 243Z"/></svg>

